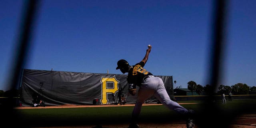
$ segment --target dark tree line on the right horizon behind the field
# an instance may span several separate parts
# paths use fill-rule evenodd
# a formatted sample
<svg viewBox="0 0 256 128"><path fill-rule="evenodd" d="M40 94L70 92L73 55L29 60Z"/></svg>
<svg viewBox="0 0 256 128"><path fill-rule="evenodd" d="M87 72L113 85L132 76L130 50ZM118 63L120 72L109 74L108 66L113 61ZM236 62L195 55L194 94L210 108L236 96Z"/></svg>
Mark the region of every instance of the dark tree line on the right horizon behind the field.
<svg viewBox="0 0 256 128"><path fill-rule="evenodd" d="M196 84L194 81L188 82L188 90L190 90L193 94L193 92L198 93L198 95L202 94L202 92L205 92L205 94L210 94L214 88L207 84L206 86L202 86L200 84ZM246 95L249 94L249 92L256 92L256 86L248 86L247 84L237 83L232 86L225 86L220 85L218 87L218 91L215 92L216 94L228 94L229 92L232 92L234 95Z"/></svg>

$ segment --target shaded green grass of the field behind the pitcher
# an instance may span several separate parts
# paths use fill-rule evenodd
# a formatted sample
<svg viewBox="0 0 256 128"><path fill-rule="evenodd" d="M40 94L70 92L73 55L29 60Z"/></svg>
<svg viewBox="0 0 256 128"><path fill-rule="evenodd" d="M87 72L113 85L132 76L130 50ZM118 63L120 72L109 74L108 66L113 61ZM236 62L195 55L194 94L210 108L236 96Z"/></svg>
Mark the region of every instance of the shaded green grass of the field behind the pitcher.
<svg viewBox="0 0 256 128"><path fill-rule="evenodd" d="M198 103L181 104L187 109L194 109L201 112L204 109L202 101L178 101L178 103ZM252 106L255 106L256 99L233 100L222 104L216 101L214 104L220 112L232 114L234 112L256 112ZM106 123L124 123L130 122L131 113L134 106L119 107L90 107L90 108L47 108L47 109L14 109L15 120L28 127L32 126L55 126L55 125L84 125L84 124L106 124ZM168 110L166 106L142 106L140 114L141 121L150 122L172 122L172 120L181 120L182 117Z"/></svg>

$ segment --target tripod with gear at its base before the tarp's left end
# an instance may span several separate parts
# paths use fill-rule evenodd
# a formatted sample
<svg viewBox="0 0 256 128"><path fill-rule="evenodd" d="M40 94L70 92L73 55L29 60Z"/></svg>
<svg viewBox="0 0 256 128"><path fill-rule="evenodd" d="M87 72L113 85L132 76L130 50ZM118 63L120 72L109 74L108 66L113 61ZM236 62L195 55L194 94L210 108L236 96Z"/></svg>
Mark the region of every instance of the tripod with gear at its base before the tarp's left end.
<svg viewBox="0 0 256 128"><path fill-rule="evenodd" d="M38 106L44 106L45 107L45 103L44 100L42 100L43 96L43 90L42 90L42 86L43 86L43 82L40 82L40 89L36 95L36 97L33 98L31 106L32 107L38 107Z"/></svg>

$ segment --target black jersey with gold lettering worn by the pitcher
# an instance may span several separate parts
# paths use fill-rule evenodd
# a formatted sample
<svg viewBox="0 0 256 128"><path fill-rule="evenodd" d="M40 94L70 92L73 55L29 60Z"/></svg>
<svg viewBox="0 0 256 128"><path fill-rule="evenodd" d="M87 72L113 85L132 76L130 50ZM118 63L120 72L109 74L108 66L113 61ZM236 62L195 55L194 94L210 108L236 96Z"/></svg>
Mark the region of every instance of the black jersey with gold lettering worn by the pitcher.
<svg viewBox="0 0 256 128"><path fill-rule="evenodd" d="M141 61L135 64L134 66L132 66L132 68L128 72L128 77L127 77L127 81L129 84L135 84L137 86L140 86L145 76L153 75L143 68L144 65L145 63Z"/></svg>

